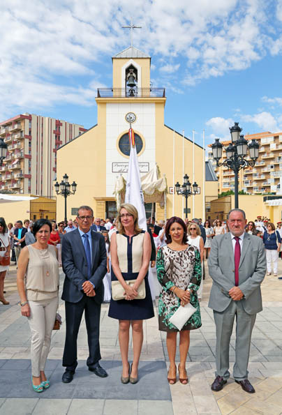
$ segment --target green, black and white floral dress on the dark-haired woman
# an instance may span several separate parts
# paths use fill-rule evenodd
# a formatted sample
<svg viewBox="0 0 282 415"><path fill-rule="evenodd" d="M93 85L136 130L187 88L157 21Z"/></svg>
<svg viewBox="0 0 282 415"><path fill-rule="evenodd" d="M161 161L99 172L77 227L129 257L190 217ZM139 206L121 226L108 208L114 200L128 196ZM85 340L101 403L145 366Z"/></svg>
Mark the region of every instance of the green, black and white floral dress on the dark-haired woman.
<svg viewBox="0 0 282 415"><path fill-rule="evenodd" d="M181 330L195 330L202 326L200 305L197 290L202 279L200 252L194 246L188 245L185 250L172 250L163 246L158 250L156 257L156 273L162 285L158 299L158 329L161 331L179 331L172 323L170 317L180 306L180 299L170 291L175 285L181 289L190 288L190 302L197 311L188 319Z"/></svg>

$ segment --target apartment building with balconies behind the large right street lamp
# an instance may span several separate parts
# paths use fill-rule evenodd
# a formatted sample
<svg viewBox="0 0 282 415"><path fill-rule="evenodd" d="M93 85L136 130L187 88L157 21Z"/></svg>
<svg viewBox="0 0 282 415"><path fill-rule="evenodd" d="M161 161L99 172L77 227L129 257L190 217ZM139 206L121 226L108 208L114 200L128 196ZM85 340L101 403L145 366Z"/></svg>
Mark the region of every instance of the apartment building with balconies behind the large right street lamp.
<svg viewBox="0 0 282 415"><path fill-rule="evenodd" d="M255 166L240 170L239 190L244 190L250 195L258 193L282 195L282 133L267 131L244 137L247 140L256 139L260 144L260 149ZM226 158L224 147L227 147L229 143L229 141L223 142L221 161ZM234 172L228 167L216 167L216 162L212 158L211 146L209 146L208 157L218 178L218 193L234 190Z"/></svg>

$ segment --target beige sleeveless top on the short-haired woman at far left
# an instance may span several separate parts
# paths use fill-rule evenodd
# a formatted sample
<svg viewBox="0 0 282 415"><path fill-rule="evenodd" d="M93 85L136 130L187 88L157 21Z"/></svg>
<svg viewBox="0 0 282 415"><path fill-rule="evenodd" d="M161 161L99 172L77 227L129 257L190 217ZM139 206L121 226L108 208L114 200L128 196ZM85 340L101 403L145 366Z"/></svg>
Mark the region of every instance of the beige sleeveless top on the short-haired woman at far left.
<svg viewBox="0 0 282 415"><path fill-rule="evenodd" d="M40 250L32 245L29 250L25 286L31 301L52 299L59 292L59 263L54 246Z"/></svg>

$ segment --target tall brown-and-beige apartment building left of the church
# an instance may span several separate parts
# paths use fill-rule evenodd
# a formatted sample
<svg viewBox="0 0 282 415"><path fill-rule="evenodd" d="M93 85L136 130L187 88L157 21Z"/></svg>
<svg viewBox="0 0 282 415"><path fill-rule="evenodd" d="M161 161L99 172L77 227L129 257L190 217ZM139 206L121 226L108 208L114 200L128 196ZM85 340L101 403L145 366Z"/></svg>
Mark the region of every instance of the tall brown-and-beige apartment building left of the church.
<svg viewBox="0 0 282 415"><path fill-rule="evenodd" d="M8 146L0 167L0 191L52 195L57 149L87 131L83 126L35 114L20 114L0 123Z"/></svg>

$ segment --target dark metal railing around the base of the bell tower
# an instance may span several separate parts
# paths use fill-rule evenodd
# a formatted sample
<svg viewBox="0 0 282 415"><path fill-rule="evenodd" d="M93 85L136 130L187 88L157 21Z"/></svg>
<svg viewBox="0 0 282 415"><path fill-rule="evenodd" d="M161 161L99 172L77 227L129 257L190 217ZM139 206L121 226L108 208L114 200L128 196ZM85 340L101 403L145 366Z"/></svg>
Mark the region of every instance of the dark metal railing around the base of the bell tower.
<svg viewBox="0 0 282 415"><path fill-rule="evenodd" d="M97 98L165 98L165 88L98 88Z"/></svg>

